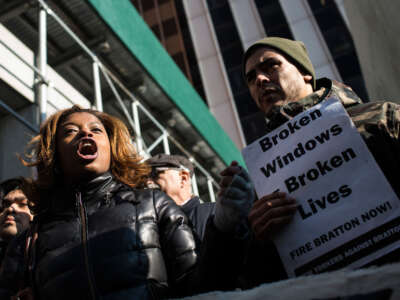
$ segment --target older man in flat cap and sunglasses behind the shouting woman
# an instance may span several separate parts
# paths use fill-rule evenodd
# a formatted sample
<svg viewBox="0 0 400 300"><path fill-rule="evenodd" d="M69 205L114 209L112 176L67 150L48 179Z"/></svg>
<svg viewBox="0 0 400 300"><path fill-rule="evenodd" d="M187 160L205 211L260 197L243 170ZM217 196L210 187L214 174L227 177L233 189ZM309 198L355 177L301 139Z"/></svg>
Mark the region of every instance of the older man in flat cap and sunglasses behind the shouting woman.
<svg viewBox="0 0 400 300"><path fill-rule="evenodd" d="M188 216L197 237L203 240L207 221L215 212L215 203L202 203L193 194L192 162L184 156L168 154L157 154L146 162L151 166L151 180L148 185L154 187L156 184L170 196Z"/></svg>

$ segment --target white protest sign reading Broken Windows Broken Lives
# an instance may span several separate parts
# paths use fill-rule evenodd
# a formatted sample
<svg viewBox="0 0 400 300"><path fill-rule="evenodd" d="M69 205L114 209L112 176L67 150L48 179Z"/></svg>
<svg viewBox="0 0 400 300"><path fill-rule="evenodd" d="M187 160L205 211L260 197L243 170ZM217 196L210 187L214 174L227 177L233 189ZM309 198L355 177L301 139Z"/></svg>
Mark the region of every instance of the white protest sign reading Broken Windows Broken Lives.
<svg viewBox="0 0 400 300"><path fill-rule="evenodd" d="M243 149L259 197L280 190L297 212L273 238L289 276L360 267L400 247L399 200L337 99Z"/></svg>

